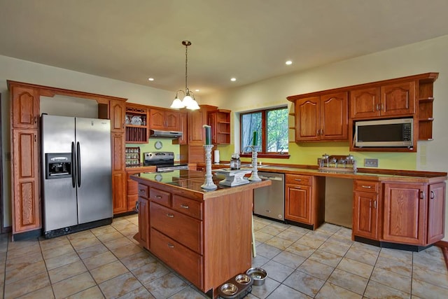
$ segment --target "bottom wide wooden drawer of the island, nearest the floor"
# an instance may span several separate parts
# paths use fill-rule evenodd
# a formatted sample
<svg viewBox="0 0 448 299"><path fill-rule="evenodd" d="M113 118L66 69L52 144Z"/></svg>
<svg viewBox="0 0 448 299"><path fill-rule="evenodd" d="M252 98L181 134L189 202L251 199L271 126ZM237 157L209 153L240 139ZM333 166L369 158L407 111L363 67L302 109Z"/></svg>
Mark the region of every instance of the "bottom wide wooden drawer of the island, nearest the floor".
<svg viewBox="0 0 448 299"><path fill-rule="evenodd" d="M197 288L202 288L202 256L151 228L151 251Z"/></svg>

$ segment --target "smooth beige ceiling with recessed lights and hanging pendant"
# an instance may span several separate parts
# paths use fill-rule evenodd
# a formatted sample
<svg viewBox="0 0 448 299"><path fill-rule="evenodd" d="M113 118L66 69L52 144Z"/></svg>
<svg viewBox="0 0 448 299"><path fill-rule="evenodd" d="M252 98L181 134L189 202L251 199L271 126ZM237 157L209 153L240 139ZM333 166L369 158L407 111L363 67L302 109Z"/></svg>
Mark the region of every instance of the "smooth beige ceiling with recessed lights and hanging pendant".
<svg viewBox="0 0 448 299"><path fill-rule="evenodd" d="M188 87L205 95L446 35L447 12L447 0L0 0L0 55L179 90L188 40Z"/></svg>

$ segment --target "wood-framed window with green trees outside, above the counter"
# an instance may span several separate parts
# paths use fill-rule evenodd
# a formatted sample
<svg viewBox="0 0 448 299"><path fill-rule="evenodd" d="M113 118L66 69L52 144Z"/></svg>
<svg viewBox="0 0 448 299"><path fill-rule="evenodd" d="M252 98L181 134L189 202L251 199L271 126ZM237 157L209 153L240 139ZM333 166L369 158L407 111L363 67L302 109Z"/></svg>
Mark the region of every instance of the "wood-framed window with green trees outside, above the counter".
<svg viewBox="0 0 448 299"><path fill-rule="evenodd" d="M253 144L253 132L257 132L258 156L288 153L288 107L241 113L240 120L241 155L251 151L247 146Z"/></svg>

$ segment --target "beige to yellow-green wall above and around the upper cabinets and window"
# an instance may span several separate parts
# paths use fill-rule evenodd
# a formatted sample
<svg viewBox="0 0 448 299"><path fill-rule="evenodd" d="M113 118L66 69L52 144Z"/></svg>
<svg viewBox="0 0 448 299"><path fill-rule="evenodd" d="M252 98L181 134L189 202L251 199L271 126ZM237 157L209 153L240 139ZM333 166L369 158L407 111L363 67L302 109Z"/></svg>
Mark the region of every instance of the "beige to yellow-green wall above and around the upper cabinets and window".
<svg viewBox="0 0 448 299"><path fill-rule="evenodd" d="M421 169L430 171L448 170L448 159L444 149L448 148L448 36L415 43L409 46L394 48L372 55L365 55L343 62L336 62L316 69L300 73L279 76L242 88L235 88L198 99L200 104L214 104L232 113L232 139L239 140L238 119L235 112L241 112L269 106L290 104L286 101L289 95L298 95L330 88L339 88L388 78L398 78L426 72L439 72L434 88L434 141L420 141L417 153L352 153L356 159L379 158L380 168ZM295 62L300 63L300 62ZM71 90L82 90L115 97L125 97L129 102L168 107L174 92L157 90L141 85L134 85L66 69L48 67L10 57L0 56L0 92L2 93L2 134L3 134L3 198L4 224L10 225L10 193L9 193L9 100L6 80L22 81L40 85L54 86ZM175 87L174 87L175 88ZM170 99L170 100L167 100ZM291 135L291 134L290 134ZM309 164L323 153L348 154L348 143L295 144L290 142L289 160L281 163ZM218 146L221 160L229 160L230 153L235 151L237 143L231 146ZM274 160L275 161L275 160ZM263 160L269 162L269 160ZM272 162L272 161L271 161ZM279 162L279 161L275 161ZM448 221L445 221L448 226ZM447 231L447 229L446 229ZM447 239L447 237L445 237Z"/></svg>

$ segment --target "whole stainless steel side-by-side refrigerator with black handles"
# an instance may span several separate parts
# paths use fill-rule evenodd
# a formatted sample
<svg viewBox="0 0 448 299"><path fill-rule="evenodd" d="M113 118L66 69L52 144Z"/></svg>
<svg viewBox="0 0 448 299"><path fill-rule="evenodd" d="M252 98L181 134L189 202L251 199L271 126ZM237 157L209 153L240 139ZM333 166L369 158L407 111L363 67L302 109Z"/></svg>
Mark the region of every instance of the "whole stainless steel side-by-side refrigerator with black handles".
<svg viewBox="0 0 448 299"><path fill-rule="evenodd" d="M41 117L45 237L112 222L110 120Z"/></svg>

